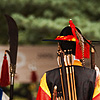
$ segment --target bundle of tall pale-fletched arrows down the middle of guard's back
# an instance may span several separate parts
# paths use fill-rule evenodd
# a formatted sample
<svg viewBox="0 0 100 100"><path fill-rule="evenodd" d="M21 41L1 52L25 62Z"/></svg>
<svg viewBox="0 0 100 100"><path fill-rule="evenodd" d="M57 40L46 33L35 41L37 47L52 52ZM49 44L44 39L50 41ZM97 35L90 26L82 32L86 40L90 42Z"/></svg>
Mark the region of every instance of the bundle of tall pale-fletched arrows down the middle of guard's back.
<svg viewBox="0 0 100 100"><path fill-rule="evenodd" d="M62 65L60 63L60 57L61 57L61 53L62 51L60 51L59 49L59 44L58 44L58 51L57 51L57 55L58 55L58 66L62 68L62 66L65 67L65 75L66 77L62 74L62 70L60 69L60 76L61 76L61 84L62 84L62 91L63 91L63 98L64 100L77 100L77 93L76 93L76 85L75 85L75 73L74 73L74 60L73 60L73 54L72 54L72 50L64 50L64 65L62 62ZM62 59L63 59L62 58ZM67 81L67 83L64 83L65 81ZM65 94L66 91L64 90L65 88L67 88L67 95ZM65 96L65 97L64 97ZM60 98L60 97L58 97ZM67 99L65 99L67 98ZM55 99L56 100L56 99ZM61 100L61 98L59 99Z"/></svg>

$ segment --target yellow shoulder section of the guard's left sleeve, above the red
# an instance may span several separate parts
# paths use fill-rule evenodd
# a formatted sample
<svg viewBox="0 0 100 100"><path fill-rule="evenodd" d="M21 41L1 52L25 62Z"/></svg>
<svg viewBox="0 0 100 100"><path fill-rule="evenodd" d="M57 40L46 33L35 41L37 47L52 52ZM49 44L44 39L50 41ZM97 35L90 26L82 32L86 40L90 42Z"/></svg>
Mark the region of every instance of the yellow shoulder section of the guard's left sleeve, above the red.
<svg viewBox="0 0 100 100"><path fill-rule="evenodd" d="M50 94L50 91L49 91L49 88L48 88L47 82L46 82L46 73L41 78L40 87L45 91L45 93L47 93L51 97L51 94Z"/></svg>

